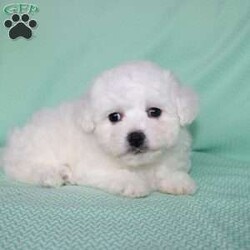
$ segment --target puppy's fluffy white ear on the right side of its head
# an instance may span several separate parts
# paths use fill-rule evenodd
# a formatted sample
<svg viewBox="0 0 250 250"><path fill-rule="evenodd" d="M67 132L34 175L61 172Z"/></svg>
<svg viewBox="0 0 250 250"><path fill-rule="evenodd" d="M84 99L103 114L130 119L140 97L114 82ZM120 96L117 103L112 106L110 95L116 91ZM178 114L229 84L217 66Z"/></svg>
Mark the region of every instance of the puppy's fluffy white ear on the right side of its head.
<svg viewBox="0 0 250 250"><path fill-rule="evenodd" d="M172 89L181 126L191 124L198 114L198 96L187 86L181 86L171 72L166 72Z"/></svg>

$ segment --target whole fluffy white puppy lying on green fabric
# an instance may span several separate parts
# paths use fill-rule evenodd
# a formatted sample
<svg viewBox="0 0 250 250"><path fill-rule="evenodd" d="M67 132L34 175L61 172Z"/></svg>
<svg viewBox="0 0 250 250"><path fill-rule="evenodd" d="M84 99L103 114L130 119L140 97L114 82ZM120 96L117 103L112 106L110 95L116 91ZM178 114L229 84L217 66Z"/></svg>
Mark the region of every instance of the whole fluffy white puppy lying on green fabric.
<svg viewBox="0 0 250 250"><path fill-rule="evenodd" d="M42 186L77 184L130 197L192 194L196 95L169 71L134 62L104 72L80 100L36 113L4 153L8 176Z"/></svg>

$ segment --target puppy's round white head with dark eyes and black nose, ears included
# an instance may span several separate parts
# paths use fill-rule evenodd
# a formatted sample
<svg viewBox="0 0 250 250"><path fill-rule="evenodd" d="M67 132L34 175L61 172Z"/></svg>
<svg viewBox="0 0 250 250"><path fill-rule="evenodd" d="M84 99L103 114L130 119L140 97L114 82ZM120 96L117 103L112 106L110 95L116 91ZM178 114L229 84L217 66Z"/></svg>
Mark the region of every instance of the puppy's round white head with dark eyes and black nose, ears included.
<svg viewBox="0 0 250 250"><path fill-rule="evenodd" d="M196 95L169 72L135 62L98 77L85 99L82 125L105 152L127 166L151 164L176 145L197 114Z"/></svg>

